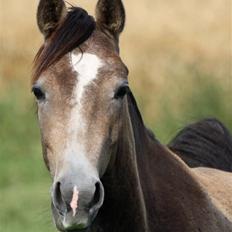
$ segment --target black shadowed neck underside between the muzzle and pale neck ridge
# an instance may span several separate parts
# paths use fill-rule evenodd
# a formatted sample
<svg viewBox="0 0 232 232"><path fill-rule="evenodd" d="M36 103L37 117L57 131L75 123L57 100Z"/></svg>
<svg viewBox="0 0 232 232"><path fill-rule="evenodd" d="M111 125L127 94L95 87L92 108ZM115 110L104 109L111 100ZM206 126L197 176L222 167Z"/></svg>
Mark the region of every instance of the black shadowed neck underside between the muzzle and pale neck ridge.
<svg viewBox="0 0 232 232"><path fill-rule="evenodd" d="M129 103L126 100L124 103L117 152L112 166L102 178L105 200L96 220L97 231L147 232Z"/></svg>

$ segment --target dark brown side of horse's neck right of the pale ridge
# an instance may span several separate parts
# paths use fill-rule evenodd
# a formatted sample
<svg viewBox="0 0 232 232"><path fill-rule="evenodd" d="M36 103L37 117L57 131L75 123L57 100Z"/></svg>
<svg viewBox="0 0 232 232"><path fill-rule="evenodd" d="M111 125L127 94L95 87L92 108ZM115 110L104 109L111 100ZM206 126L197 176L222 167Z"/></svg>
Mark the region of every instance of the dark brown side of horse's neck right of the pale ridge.
<svg viewBox="0 0 232 232"><path fill-rule="evenodd" d="M146 225L146 230L140 231L190 231L186 215L193 214L197 218L201 213L198 206L208 207L207 196L186 164L146 129L132 95L128 108L134 141L130 155L135 157L133 165L142 192L140 202L143 208L140 210L143 211L140 212L145 216ZM191 206L183 208L183 205ZM170 218L173 218L171 223Z"/></svg>

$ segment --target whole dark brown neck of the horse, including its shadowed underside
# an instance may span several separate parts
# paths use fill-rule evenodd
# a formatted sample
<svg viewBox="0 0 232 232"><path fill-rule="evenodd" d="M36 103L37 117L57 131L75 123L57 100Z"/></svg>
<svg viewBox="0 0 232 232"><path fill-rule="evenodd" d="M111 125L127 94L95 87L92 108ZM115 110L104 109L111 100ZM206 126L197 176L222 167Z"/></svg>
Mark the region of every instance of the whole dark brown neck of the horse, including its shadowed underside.
<svg viewBox="0 0 232 232"><path fill-rule="evenodd" d="M148 132L132 95L124 108L114 165L102 179L105 202L93 231L195 231L205 221L199 217L202 208L210 212L206 195L189 168ZM187 215L198 219L196 225Z"/></svg>

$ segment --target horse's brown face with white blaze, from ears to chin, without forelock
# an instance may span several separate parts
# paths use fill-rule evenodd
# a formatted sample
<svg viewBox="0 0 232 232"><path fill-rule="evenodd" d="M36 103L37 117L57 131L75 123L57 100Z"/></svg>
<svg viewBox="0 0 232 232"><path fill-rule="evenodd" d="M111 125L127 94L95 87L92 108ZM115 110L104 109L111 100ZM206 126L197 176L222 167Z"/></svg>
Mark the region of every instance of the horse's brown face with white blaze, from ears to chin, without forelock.
<svg viewBox="0 0 232 232"><path fill-rule="evenodd" d="M41 20L47 20L49 12L44 11L48 2L41 1L38 10L38 24L46 40L52 29L47 30L47 22ZM57 21L58 16L63 17L65 9L61 8L65 6L62 1L56 2ZM117 148L128 73L117 49L124 25L117 17L124 13L123 8L121 1L110 2L98 2L98 26L88 40L43 71L33 83L44 159L53 178L52 211L61 231L91 225L104 202L100 179ZM117 6L117 17L110 12L117 28L114 20L105 24L110 21L106 12L101 12L109 4ZM101 26L106 31L99 29Z"/></svg>

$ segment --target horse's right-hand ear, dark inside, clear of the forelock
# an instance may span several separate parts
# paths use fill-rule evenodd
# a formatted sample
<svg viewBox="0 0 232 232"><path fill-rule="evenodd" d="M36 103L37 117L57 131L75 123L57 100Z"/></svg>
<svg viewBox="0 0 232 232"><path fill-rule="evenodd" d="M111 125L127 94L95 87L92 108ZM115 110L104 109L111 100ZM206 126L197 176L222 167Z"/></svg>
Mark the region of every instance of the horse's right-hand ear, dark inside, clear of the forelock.
<svg viewBox="0 0 232 232"><path fill-rule="evenodd" d="M108 30L115 38L123 31L125 9L121 0L99 0L96 7L98 25Z"/></svg>

